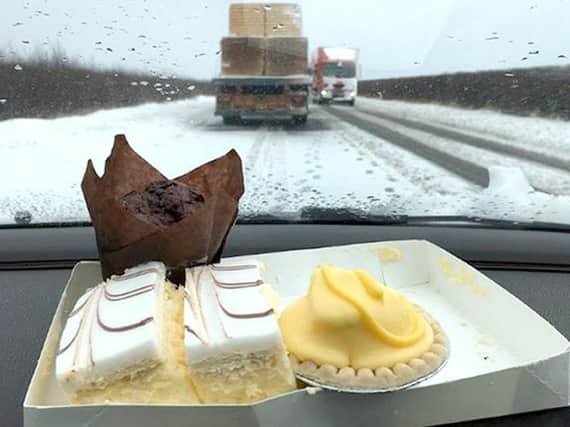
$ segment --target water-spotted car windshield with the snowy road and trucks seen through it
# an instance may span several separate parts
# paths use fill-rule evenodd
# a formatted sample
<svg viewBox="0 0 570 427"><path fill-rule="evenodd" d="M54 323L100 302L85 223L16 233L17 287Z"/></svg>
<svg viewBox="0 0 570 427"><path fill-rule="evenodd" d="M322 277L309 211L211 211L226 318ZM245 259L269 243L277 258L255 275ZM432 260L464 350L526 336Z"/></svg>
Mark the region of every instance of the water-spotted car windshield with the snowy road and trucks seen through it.
<svg viewBox="0 0 570 427"><path fill-rule="evenodd" d="M101 176L125 134L168 178L235 149L242 222L562 228L568 16L560 0L5 1L0 225L90 221L87 161Z"/></svg>

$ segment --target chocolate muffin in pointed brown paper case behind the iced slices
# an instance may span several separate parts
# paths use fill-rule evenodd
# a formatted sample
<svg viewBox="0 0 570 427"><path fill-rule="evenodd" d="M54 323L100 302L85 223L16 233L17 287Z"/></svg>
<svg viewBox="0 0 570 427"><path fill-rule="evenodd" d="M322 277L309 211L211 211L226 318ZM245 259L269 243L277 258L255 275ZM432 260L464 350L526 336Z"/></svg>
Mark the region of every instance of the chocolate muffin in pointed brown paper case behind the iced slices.
<svg viewBox="0 0 570 427"><path fill-rule="evenodd" d="M244 183L235 150L169 180L117 135L103 176L89 160L81 188L106 279L148 261L218 262Z"/></svg>

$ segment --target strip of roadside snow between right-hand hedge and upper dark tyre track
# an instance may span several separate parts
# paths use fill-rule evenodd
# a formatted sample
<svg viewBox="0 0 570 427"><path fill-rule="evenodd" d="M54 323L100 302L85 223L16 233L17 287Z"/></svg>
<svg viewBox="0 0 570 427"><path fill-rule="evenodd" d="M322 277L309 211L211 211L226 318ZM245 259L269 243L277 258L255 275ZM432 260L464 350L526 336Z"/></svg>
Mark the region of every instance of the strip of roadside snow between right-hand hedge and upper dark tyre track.
<svg viewBox="0 0 570 427"><path fill-rule="evenodd" d="M358 105L398 117L450 126L515 147L570 160L570 121L519 117L429 103L358 98Z"/></svg>

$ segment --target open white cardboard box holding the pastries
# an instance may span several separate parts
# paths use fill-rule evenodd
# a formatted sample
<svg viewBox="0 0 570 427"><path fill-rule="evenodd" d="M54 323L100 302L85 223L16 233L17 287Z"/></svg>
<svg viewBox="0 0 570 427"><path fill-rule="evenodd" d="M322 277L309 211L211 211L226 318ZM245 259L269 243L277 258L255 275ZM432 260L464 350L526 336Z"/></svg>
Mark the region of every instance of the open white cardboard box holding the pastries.
<svg viewBox="0 0 570 427"><path fill-rule="evenodd" d="M429 242L243 258L265 264L265 281L284 302L306 292L319 264L368 270L439 320L450 340L447 365L408 390L383 394L308 388L254 405L70 405L54 376L62 322L76 299L101 279L98 263L81 262L73 269L29 385L24 426L423 426L570 405L568 340L498 284Z"/></svg>

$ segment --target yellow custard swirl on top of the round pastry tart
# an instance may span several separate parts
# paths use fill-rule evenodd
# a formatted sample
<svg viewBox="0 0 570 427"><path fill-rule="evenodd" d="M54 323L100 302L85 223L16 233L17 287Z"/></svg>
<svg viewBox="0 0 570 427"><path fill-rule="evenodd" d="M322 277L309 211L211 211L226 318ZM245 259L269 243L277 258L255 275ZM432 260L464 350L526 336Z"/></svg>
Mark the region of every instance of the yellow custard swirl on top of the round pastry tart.
<svg viewBox="0 0 570 427"><path fill-rule="evenodd" d="M318 267L279 319L287 350L337 368L392 367L429 350L433 330L399 292L362 270Z"/></svg>

